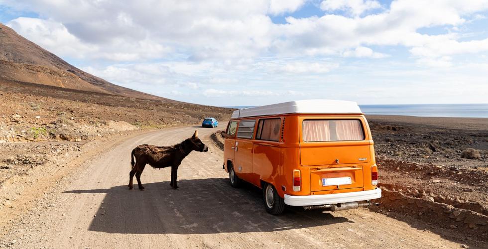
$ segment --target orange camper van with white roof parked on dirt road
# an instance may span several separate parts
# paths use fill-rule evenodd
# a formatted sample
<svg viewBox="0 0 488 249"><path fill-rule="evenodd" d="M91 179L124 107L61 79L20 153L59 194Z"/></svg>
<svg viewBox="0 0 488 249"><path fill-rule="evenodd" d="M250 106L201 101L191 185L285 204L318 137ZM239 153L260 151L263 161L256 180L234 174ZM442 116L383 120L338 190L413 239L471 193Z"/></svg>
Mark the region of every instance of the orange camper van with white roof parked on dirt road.
<svg viewBox="0 0 488 249"><path fill-rule="evenodd" d="M263 190L273 215L285 204L347 210L381 197L371 132L355 102L303 100L234 111L224 169L230 183Z"/></svg>

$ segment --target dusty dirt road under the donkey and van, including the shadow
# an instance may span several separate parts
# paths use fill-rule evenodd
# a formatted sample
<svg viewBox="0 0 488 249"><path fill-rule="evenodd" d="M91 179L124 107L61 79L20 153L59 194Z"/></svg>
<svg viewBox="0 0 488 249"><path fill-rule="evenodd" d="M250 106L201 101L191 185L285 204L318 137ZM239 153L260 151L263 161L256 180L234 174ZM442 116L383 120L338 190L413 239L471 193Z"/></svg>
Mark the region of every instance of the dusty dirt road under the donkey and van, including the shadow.
<svg viewBox="0 0 488 249"><path fill-rule="evenodd" d="M368 209L321 213L288 209L268 215L258 189L233 189L222 170L222 152L209 145L192 152L178 172L146 167L145 191L127 188L130 151L142 143L170 145L195 127L129 137L87 158L51 186L34 208L14 221L0 245L14 248L459 248L428 230ZM4 227L4 228L6 228Z"/></svg>

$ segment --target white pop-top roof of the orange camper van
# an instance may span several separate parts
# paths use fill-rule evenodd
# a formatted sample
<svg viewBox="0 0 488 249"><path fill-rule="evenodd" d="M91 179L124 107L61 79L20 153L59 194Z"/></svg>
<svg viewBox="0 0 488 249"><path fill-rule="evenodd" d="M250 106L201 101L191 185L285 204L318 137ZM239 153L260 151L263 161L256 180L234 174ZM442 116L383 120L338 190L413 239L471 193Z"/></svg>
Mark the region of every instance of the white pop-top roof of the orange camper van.
<svg viewBox="0 0 488 249"><path fill-rule="evenodd" d="M289 113L362 114L363 112L353 101L298 100L236 110L232 114L232 119Z"/></svg>

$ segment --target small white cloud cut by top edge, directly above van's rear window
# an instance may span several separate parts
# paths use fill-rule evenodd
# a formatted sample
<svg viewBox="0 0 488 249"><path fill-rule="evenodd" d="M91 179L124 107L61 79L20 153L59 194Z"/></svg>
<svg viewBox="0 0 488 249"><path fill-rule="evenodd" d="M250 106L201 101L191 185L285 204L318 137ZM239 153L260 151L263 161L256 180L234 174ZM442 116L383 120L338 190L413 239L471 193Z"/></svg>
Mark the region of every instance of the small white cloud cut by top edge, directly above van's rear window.
<svg viewBox="0 0 488 249"><path fill-rule="evenodd" d="M381 8L381 4L376 0L324 0L320 8L326 11L346 10L358 16L367 10Z"/></svg>

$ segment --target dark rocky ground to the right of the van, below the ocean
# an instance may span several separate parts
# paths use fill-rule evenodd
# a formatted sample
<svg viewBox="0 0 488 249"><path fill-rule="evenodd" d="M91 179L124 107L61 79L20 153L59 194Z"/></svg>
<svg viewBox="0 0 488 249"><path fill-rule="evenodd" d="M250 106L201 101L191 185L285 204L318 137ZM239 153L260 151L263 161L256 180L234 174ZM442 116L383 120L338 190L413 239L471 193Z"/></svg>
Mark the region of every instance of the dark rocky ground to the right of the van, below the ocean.
<svg viewBox="0 0 488 249"><path fill-rule="evenodd" d="M383 189L374 210L488 246L488 119L367 118Z"/></svg>

